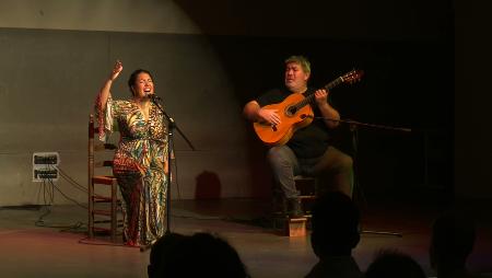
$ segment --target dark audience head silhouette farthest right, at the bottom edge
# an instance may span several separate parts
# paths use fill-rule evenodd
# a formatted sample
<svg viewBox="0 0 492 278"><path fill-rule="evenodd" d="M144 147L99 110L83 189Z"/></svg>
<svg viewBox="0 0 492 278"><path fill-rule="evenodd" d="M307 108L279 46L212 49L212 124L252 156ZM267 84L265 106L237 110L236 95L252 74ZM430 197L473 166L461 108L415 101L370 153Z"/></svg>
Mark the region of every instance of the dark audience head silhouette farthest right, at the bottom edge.
<svg viewBox="0 0 492 278"><path fill-rule="evenodd" d="M475 223L462 213L448 211L434 220L430 259L437 277L466 271L466 262L473 250L475 239Z"/></svg>

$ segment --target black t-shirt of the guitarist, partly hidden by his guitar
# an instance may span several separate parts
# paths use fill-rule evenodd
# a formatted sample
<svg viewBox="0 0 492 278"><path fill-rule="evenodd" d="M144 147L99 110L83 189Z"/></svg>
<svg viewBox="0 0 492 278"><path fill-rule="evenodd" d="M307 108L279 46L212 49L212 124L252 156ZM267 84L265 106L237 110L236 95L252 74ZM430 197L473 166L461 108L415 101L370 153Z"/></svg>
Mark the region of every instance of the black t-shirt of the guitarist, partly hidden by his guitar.
<svg viewBox="0 0 492 278"><path fill-rule="evenodd" d="M313 89L308 89L304 95L314 93ZM289 89L274 89L260 95L256 101L262 107L265 105L281 103L291 94ZM307 127L297 129L286 143L297 158L314 159L323 155L329 146L329 131L321 117L316 104L309 104L313 108L315 118Z"/></svg>

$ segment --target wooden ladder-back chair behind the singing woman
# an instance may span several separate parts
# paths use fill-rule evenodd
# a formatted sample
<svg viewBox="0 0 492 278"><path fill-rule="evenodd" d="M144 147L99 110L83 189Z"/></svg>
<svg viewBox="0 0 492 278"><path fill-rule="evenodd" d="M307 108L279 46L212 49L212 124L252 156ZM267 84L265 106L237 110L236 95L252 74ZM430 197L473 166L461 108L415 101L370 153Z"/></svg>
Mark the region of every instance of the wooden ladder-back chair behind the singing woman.
<svg viewBox="0 0 492 278"><path fill-rule="evenodd" d="M94 135L98 134L98 128L94 126L94 116L89 118L89 239L94 239L96 234L109 234L112 242L116 242L118 230L118 184L116 178L108 175L95 175L95 169L106 169L110 172L113 161L95 160L104 157L104 152L114 153L116 146L112 143L94 140ZM107 157L107 155L106 155ZM101 172L101 171L99 171ZM104 225L102 225L104 224Z"/></svg>

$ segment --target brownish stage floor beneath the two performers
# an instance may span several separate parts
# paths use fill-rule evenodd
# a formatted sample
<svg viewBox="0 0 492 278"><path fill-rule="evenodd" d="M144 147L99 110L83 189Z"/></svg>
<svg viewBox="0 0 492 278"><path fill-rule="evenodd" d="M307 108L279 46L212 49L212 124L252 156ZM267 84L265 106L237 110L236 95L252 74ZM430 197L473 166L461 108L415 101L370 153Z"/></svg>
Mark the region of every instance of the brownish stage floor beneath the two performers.
<svg viewBox="0 0 492 278"><path fill-rule="evenodd" d="M391 198L388 198L391 199ZM415 258L429 276L429 236L432 220L446 205L422 199L367 201L364 231L397 232L402 236L362 234L354 257L365 269L380 248L396 248ZM464 202L478 225L478 239L468 266L492 273L492 218L487 202ZM0 264L2 277L147 277L150 252L87 242L86 210L78 206L0 209ZM171 230L191 234L220 234L239 253L251 277L304 277L317 262L309 238L280 236L265 218L269 200L218 199L172 202Z"/></svg>

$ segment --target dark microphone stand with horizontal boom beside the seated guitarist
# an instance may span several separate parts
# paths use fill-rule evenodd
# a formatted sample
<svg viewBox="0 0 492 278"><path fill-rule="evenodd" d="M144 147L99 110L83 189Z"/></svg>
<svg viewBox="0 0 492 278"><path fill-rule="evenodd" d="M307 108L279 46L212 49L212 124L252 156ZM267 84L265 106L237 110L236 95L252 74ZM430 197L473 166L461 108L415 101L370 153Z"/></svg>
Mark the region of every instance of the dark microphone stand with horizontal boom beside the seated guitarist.
<svg viewBox="0 0 492 278"><path fill-rule="evenodd" d="M412 130L410 128L401 128L401 127L390 127L390 126L383 126L383 125L375 125L375 124L366 124L366 123L360 123L351 119L332 119L332 118L326 118L326 117L315 117L317 119L326 119L326 120L332 120L338 121L342 124L348 124L349 129L352 136L352 160L353 160L353 172L354 172L354 187L360 190L361 197L365 200L364 192L362 189L362 186L359 182L359 158L358 158L358 151L359 151L359 134L358 129L360 126L362 127L368 127L368 128L377 128L377 129L386 129L386 130L393 130L393 131L400 131L400 132L411 132ZM397 232L383 232L383 231L371 231L371 230L361 230L361 233L368 233L368 234L383 234L383 235L394 235L398 238L402 238L403 235L401 233Z"/></svg>

